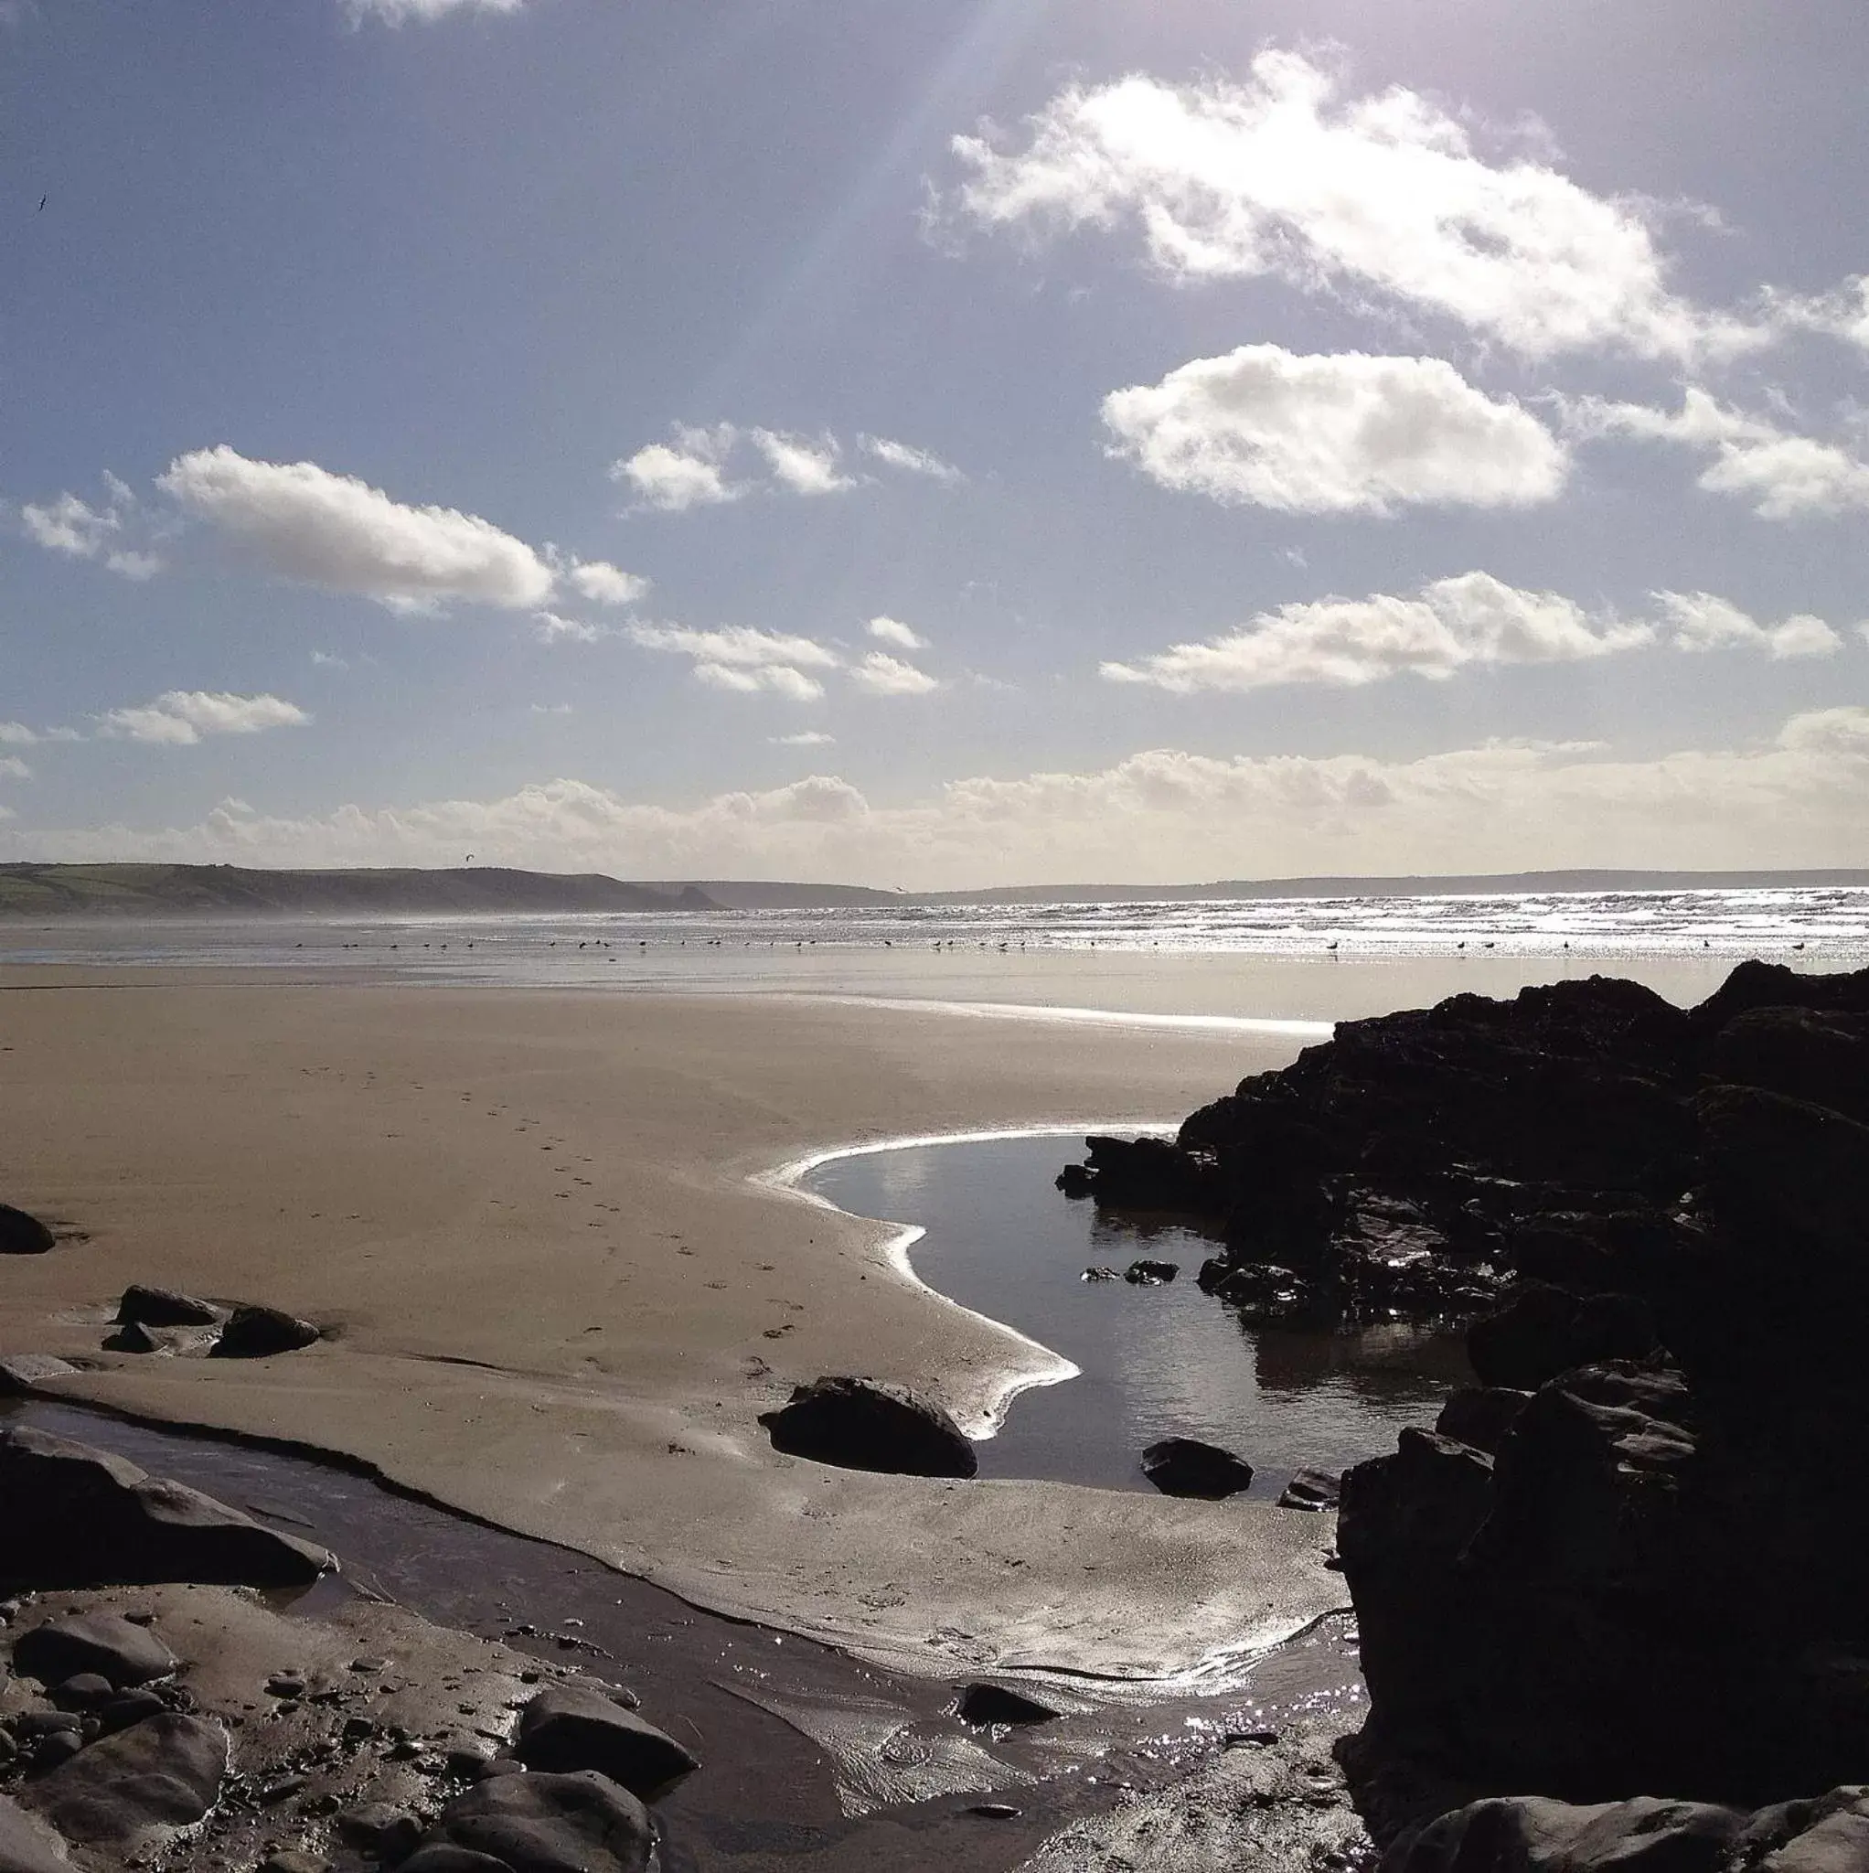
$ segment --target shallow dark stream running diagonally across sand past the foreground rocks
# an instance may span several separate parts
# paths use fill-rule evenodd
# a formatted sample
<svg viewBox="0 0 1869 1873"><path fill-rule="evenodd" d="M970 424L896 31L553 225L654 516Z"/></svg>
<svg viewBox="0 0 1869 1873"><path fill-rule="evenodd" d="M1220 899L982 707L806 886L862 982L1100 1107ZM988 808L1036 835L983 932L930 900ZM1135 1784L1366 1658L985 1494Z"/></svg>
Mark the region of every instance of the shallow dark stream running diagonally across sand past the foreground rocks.
<svg viewBox="0 0 1869 1873"><path fill-rule="evenodd" d="M1073 1819L1172 1781L1230 1731L1363 1706L1354 1628L1307 1633L1197 1688L1023 1678L1064 1716L972 1729L955 1686L897 1678L792 1633L719 1618L566 1549L397 1495L337 1463L127 1423L64 1405L0 1408L120 1452L343 1556L326 1596L380 1594L440 1626L575 1661L642 1697L702 1772L657 1804L663 1873L979 1873L1015 1867ZM1322 1532L1322 1530L1320 1530ZM1006 1802L1011 1821L968 1813Z"/></svg>

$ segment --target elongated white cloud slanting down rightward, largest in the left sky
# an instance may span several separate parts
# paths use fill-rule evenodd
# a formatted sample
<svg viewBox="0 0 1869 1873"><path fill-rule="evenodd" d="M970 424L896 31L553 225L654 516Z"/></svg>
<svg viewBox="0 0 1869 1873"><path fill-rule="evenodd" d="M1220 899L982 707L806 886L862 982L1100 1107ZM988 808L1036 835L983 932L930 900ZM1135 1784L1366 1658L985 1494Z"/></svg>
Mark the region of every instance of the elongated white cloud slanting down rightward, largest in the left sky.
<svg viewBox="0 0 1869 1873"><path fill-rule="evenodd" d="M552 592L545 560L491 521L410 508L316 463L249 461L223 442L178 455L157 487L305 584L414 609L468 599L530 611Z"/></svg>

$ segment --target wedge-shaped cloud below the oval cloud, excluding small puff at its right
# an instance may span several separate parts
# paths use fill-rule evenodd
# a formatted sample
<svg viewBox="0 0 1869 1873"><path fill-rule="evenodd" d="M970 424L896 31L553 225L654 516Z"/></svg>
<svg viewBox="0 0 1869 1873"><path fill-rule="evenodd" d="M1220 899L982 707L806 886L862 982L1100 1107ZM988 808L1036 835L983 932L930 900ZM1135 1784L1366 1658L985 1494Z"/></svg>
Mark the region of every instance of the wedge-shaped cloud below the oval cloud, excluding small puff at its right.
<svg viewBox="0 0 1869 1873"><path fill-rule="evenodd" d="M1281 605L1225 637L1174 644L1139 663L1105 663L1101 674L1176 695L1275 684L1361 686L1405 671L1446 678L1468 665L1573 663L1652 639L1652 626L1592 616L1556 592L1523 592L1489 573L1464 573L1438 579L1416 597Z"/></svg>

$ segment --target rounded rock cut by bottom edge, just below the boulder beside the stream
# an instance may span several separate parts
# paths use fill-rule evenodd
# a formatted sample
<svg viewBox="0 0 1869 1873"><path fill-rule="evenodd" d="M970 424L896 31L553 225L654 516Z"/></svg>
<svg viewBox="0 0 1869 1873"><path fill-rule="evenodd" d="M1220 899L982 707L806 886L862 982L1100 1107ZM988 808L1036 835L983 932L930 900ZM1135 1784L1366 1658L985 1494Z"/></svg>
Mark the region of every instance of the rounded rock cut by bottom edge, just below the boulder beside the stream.
<svg viewBox="0 0 1869 1873"><path fill-rule="evenodd" d="M607 1776L496 1776L455 1796L406 1873L478 1873L438 1849L485 1854L506 1873L644 1873L652 1828L642 1804Z"/></svg>

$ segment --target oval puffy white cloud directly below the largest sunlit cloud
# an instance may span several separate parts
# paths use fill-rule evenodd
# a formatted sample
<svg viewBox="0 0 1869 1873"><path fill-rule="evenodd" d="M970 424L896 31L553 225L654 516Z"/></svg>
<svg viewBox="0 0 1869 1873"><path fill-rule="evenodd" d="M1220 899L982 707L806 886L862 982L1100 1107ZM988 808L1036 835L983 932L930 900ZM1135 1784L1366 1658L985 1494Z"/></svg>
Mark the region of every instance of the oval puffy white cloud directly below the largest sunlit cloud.
<svg viewBox="0 0 1869 1873"><path fill-rule="evenodd" d="M1536 416L1440 358L1242 345L1114 391L1103 421L1111 453L1163 487L1279 513L1524 508L1569 468Z"/></svg>

